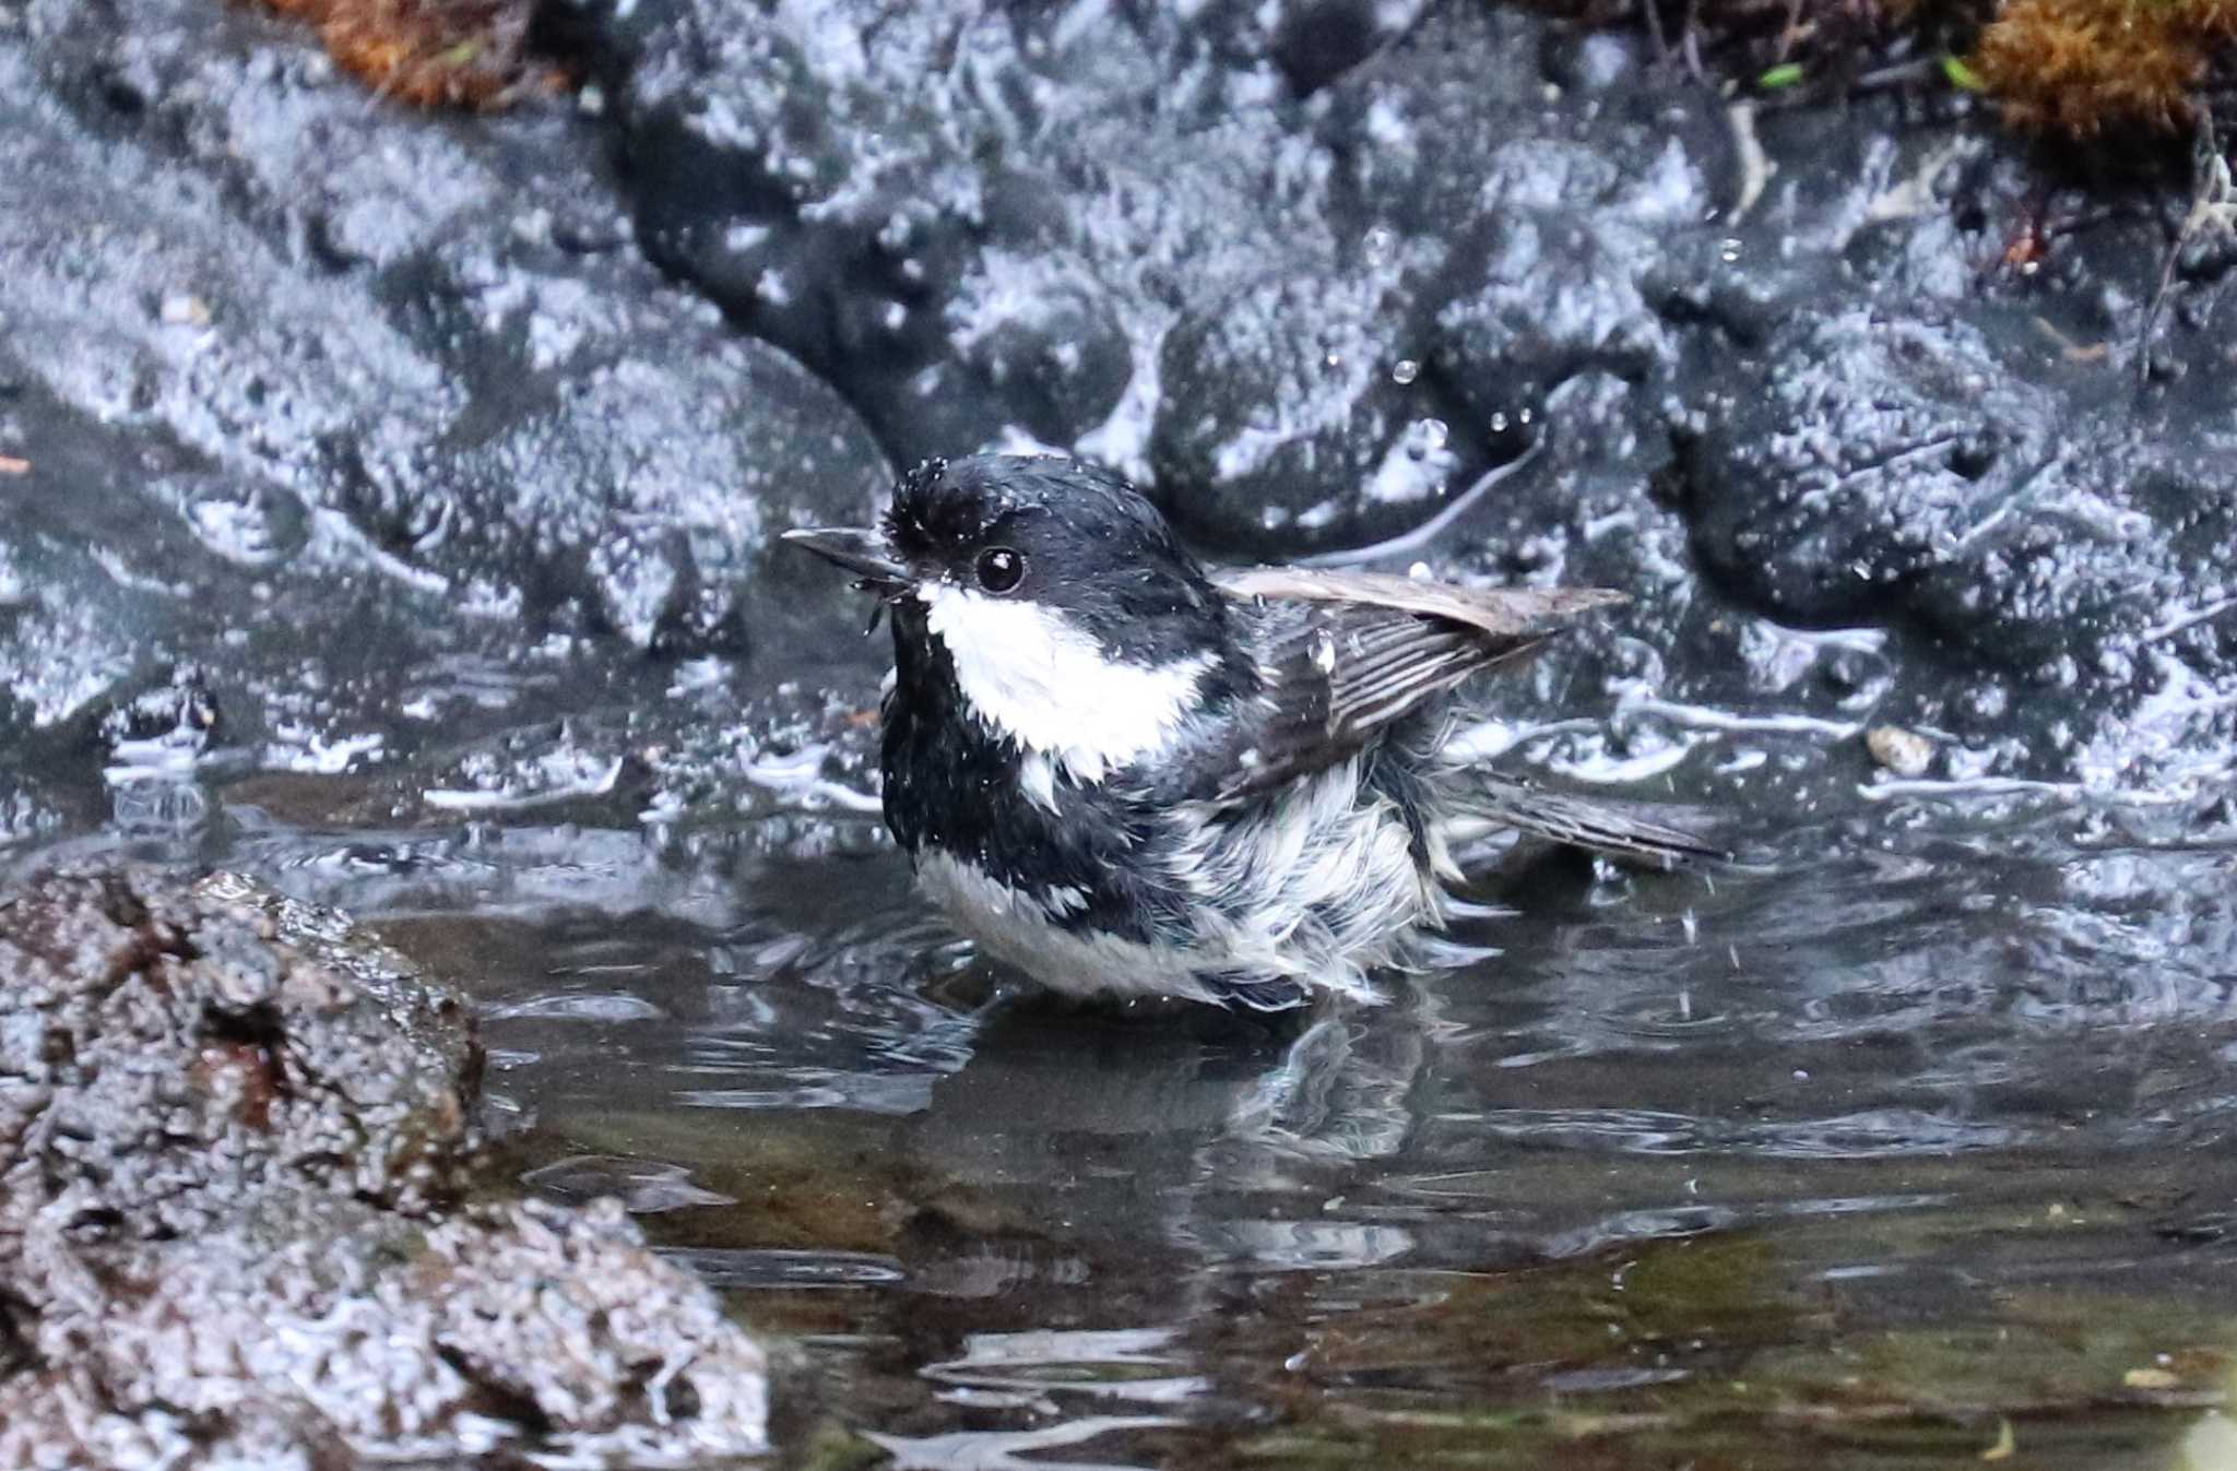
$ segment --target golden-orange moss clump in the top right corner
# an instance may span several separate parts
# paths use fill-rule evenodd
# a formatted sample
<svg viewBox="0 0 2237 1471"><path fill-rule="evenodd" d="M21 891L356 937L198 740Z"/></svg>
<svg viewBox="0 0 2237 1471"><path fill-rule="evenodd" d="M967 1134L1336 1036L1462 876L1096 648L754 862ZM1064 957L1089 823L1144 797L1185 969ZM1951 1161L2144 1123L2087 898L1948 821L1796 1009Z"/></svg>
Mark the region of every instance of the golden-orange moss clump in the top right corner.
<svg viewBox="0 0 2237 1471"><path fill-rule="evenodd" d="M2022 127L2188 130L2237 0L2004 0L1971 56Z"/></svg>

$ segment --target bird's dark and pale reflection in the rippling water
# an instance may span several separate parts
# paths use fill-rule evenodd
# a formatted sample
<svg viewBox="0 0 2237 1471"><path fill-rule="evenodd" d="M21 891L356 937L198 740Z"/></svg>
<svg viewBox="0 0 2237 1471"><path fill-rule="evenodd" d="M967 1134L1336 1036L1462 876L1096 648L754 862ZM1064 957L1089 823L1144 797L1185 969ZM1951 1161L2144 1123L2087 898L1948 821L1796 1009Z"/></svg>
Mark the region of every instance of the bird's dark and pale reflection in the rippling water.
<svg viewBox="0 0 2237 1471"><path fill-rule="evenodd" d="M1277 1015L1011 1002L933 1084L908 1149L1000 1196L1009 1230L1085 1256L1159 1243L1199 1265L1382 1261L1403 1230L1322 1207L1409 1138L1434 1017L1405 981L1385 1006Z"/></svg>

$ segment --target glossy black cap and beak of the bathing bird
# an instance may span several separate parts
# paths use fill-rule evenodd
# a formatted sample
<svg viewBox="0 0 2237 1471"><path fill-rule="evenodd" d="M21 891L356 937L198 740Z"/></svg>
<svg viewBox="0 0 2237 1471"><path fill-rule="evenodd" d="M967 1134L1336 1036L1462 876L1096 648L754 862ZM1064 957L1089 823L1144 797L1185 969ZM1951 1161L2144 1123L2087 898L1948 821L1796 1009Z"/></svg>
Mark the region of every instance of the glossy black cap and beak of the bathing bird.
<svg viewBox="0 0 2237 1471"><path fill-rule="evenodd" d="M1219 592L1157 507L1078 461L924 461L895 485L879 528L803 528L785 541L859 572L888 604L1031 604L1130 662L1226 642Z"/></svg>

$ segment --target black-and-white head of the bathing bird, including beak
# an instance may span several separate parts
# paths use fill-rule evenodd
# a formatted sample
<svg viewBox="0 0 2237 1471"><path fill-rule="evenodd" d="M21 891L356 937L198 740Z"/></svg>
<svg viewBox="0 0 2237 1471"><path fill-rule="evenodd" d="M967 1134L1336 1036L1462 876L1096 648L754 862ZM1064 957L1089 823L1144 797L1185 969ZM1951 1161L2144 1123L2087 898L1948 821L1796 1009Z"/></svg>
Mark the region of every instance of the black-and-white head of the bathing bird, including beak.
<svg viewBox="0 0 2237 1471"><path fill-rule="evenodd" d="M895 610L904 697L944 655L980 720L1080 780L1163 744L1237 657L1204 568L1141 492L1094 465L926 461L881 525L785 539Z"/></svg>

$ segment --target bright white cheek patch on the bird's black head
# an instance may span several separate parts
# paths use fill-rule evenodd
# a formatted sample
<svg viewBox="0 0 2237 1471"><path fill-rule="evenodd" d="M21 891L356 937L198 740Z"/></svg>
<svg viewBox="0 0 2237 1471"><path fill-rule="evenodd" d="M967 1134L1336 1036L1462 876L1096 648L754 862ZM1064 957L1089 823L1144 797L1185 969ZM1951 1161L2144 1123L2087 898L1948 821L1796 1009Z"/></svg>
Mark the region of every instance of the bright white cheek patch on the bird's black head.
<svg viewBox="0 0 2237 1471"><path fill-rule="evenodd" d="M924 583L926 626L978 715L1078 782L1098 782L1179 731L1217 655L1127 664L1040 604ZM1054 771L1042 767L1042 787ZM1033 791L1054 809L1054 791Z"/></svg>

